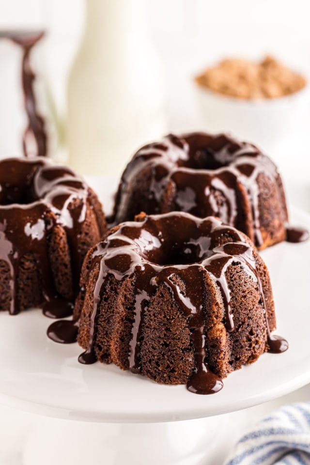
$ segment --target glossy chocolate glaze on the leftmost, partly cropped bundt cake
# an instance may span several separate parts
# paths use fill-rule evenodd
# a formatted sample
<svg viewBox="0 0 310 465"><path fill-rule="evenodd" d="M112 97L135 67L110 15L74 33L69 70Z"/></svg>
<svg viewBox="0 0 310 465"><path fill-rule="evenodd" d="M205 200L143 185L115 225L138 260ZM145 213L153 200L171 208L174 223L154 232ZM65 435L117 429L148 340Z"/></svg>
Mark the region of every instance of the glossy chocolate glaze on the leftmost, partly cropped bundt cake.
<svg viewBox="0 0 310 465"><path fill-rule="evenodd" d="M52 228L61 225L67 235L77 290L81 261L77 241L87 197L87 186L69 168L55 167L44 158L0 161L0 261L10 269L11 314L18 313L16 278L21 259L29 253L37 260L45 314L58 318L72 313L72 305L55 289L48 240Z"/></svg>

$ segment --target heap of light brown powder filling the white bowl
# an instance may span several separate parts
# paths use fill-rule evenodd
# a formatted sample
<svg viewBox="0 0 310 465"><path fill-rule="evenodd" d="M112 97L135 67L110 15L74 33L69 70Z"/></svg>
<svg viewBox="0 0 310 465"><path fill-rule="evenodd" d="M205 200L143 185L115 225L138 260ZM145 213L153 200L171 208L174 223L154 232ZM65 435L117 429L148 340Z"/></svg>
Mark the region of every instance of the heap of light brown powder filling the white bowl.
<svg viewBox="0 0 310 465"><path fill-rule="evenodd" d="M254 63L238 58L221 61L195 78L212 91L244 99L277 98L301 90L306 79L271 56Z"/></svg>

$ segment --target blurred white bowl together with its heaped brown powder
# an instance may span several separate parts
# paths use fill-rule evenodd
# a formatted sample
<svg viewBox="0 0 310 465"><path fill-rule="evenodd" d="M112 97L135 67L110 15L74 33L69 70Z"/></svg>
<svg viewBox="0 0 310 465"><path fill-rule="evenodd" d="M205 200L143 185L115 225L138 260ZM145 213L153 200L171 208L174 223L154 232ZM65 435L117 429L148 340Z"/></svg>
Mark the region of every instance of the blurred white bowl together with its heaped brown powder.
<svg viewBox="0 0 310 465"><path fill-rule="evenodd" d="M202 116L213 131L232 131L265 149L294 130L309 107L307 80L266 56L226 59L195 78Z"/></svg>

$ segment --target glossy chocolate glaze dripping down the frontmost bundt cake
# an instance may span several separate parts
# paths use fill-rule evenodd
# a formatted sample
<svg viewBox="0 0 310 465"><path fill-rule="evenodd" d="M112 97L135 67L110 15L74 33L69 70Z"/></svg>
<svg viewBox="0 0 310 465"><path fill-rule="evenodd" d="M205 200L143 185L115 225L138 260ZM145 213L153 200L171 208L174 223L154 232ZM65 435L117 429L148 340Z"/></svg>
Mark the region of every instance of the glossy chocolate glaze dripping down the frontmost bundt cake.
<svg viewBox="0 0 310 465"><path fill-rule="evenodd" d="M267 327L266 347L283 352L288 345L278 336L271 336L264 303L263 287L256 269L255 256L242 233L225 226L214 217L199 219L186 213L140 216L140 221L121 224L93 252L93 266L100 263L100 272L93 294L90 342L79 357L82 363L93 363L96 341L96 319L100 295L106 279L113 275L122 280L135 277L135 311L128 356L129 369L140 372L140 341L145 309L158 286L165 285L188 319L195 358L195 371L187 388L198 394L211 394L222 387L221 380L207 365L205 334L206 308L203 300L205 274L217 283L225 307L225 325L234 330L230 289L226 270L237 263L258 284ZM181 279L185 289L181 289ZM277 350L276 350L277 349Z"/></svg>

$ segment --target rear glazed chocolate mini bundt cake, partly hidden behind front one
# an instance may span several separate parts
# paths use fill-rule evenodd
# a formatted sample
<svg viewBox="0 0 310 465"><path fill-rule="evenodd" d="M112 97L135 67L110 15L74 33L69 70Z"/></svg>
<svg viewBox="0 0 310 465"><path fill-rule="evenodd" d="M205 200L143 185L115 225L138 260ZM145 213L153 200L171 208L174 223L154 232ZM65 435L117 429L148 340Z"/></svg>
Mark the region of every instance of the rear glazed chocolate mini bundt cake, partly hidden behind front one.
<svg viewBox="0 0 310 465"><path fill-rule="evenodd" d="M170 134L142 147L122 176L112 223L140 211L216 216L260 249L287 237L277 167L254 145L225 134Z"/></svg>

